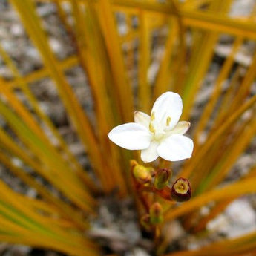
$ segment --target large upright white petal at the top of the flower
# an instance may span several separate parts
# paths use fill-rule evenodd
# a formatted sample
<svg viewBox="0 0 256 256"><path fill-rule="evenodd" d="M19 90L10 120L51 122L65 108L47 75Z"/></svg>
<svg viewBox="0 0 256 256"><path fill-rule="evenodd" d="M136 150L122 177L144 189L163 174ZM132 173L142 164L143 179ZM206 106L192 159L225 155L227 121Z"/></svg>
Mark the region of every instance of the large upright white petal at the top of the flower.
<svg viewBox="0 0 256 256"><path fill-rule="evenodd" d="M154 102L151 114L154 112L154 116L157 122L162 125L166 125L166 119L171 118L168 128L174 128L180 119L183 111L183 102L180 95L168 91L163 93L156 102Z"/></svg>

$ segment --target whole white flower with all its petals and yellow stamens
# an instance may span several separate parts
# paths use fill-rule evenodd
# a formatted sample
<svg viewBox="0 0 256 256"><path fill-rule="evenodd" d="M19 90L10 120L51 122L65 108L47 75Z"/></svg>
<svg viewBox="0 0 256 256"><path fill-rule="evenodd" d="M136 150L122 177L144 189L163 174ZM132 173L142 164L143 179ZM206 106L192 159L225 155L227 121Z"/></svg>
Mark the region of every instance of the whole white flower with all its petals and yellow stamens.
<svg viewBox="0 0 256 256"><path fill-rule="evenodd" d="M183 136L190 123L179 122L182 109L180 95L168 91L154 102L151 116L137 111L134 113L135 122L116 126L108 137L122 148L141 150L141 158L145 163L157 157L169 161L190 158L194 144Z"/></svg>

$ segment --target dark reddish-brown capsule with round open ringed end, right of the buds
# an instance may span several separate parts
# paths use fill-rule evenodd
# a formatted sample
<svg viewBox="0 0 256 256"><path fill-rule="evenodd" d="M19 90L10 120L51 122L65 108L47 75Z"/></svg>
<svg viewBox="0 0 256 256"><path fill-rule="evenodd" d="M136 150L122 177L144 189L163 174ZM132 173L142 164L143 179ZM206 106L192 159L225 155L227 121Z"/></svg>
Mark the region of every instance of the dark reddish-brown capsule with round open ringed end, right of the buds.
<svg viewBox="0 0 256 256"><path fill-rule="evenodd" d="M177 202L185 202L191 198L191 186L187 179L179 178L171 188L171 198Z"/></svg>

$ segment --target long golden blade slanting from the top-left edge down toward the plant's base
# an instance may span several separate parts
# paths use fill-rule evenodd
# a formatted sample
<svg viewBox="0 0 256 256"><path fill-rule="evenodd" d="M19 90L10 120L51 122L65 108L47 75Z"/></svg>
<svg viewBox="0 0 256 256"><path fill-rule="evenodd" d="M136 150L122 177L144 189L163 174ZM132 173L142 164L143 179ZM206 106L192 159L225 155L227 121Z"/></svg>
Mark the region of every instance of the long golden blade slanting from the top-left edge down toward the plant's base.
<svg viewBox="0 0 256 256"><path fill-rule="evenodd" d="M50 76L55 80L59 94L70 114L73 125L75 125L82 142L88 146L88 154L90 155L93 166L96 172L100 174L104 166L102 165L102 158L100 157L99 148L97 146L98 142L94 131L85 112L82 111L82 108L77 102L70 85L68 85L68 82L65 80L64 74L57 66L56 59L47 44L47 38L41 28L39 18L36 16L33 4L29 0L22 1L22 3L17 0L13 0L12 2L13 6L19 11L30 38L38 47ZM102 180L102 182L104 182L104 180ZM108 188L108 185L105 184L104 187Z"/></svg>

